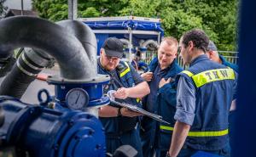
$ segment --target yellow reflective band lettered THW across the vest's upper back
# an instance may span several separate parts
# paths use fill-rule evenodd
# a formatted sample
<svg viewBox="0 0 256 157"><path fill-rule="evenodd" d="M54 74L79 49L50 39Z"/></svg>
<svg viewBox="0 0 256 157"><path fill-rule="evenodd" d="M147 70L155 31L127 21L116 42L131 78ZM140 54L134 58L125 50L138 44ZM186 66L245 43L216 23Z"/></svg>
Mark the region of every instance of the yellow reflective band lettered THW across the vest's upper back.
<svg viewBox="0 0 256 157"><path fill-rule="evenodd" d="M201 87L212 81L235 80L235 72L232 69L216 69L203 71L192 76L196 87Z"/></svg>

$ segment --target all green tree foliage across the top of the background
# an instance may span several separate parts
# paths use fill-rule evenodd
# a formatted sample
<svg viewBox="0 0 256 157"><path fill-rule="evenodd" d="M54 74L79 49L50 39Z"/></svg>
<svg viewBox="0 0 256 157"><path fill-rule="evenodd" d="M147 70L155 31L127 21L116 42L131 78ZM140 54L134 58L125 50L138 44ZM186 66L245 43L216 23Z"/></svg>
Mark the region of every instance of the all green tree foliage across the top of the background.
<svg viewBox="0 0 256 157"><path fill-rule="evenodd" d="M201 28L218 49L236 50L238 0L78 0L79 17L143 16L160 18L166 36ZM32 0L42 18L67 19L67 0Z"/></svg>

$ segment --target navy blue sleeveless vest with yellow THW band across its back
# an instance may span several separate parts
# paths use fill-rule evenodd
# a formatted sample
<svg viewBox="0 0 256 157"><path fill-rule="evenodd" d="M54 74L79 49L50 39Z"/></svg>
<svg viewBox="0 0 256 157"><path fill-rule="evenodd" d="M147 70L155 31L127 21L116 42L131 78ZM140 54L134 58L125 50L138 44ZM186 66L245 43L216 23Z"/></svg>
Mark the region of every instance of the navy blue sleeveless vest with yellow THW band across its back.
<svg viewBox="0 0 256 157"><path fill-rule="evenodd" d="M195 119L185 144L197 150L218 150L229 144L228 116L236 73L206 55L196 58L178 76L195 85Z"/></svg>

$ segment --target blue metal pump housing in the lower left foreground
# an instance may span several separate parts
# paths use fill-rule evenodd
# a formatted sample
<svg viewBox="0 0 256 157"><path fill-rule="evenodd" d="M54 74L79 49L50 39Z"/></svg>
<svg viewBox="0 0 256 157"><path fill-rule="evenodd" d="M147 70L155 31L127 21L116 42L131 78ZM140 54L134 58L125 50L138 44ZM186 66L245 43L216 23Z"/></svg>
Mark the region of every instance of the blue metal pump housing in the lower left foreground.
<svg viewBox="0 0 256 157"><path fill-rule="evenodd" d="M35 157L105 156L101 122L86 112L58 111L1 96L0 141ZM0 143L1 144L1 143ZM86 150L86 151L85 151Z"/></svg>

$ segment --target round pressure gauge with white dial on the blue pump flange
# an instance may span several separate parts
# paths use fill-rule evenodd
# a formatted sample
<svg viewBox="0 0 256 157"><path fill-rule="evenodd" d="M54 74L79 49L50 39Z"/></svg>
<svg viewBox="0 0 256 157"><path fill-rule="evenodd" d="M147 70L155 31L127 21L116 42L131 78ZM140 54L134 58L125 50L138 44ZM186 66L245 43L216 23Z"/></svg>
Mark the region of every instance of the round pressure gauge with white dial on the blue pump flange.
<svg viewBox="0 0 256 157"><path fill-rule="evenodd" d="M69 109L85 109L89 103L89 95L82 88L73 88L66 95L66 103Z"/></svg>

